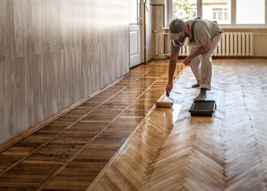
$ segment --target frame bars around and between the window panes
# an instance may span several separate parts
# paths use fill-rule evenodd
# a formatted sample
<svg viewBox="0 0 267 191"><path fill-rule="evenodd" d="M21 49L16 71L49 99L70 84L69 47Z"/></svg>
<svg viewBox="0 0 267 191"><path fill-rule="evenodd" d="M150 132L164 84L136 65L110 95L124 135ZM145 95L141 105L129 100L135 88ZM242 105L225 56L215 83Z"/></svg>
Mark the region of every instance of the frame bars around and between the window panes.
<svg viewBox="0 0 267 191"><path fill-rule="evenodd" d="M172 21L172 0L168 1L168 26ZM197 0L197 17L202 18L202 0ZM228 11L229 13L229 11ZM228 14L229 16L229 14ZM219 24L220 27L267 27L267 0L265 0L265 24L236 24L236 0L231 0L231 24Z"/></svg>

